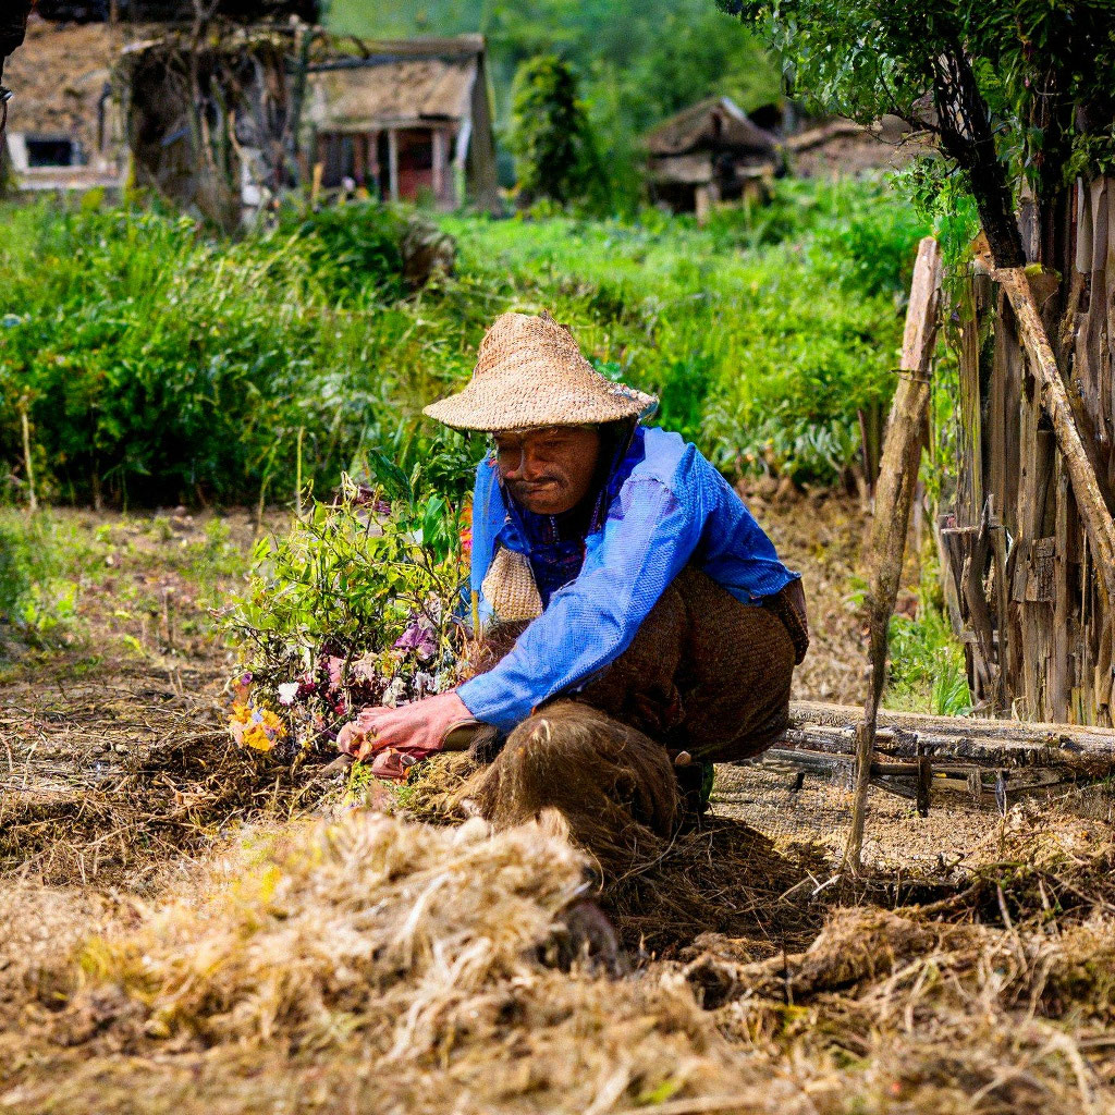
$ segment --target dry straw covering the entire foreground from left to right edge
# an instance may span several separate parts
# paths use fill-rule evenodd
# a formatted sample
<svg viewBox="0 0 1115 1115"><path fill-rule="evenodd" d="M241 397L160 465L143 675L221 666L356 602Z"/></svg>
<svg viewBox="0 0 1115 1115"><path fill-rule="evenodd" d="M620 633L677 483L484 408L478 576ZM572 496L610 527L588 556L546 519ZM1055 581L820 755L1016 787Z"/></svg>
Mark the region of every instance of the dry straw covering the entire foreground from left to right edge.
<svg viewBox="0 0 1115 1115"><path fill-rule="evenodd" d="M842 905L856 895L831 886L799 951L762 928L706 934L622 979L547 967L591 885L551 823L352 811L249 831L152 909L13 890L0 1109L1113 1111L1109 834L989 823L993 860L932 904ZM727 903L726 878L709 882ZM95 935L51 960L83 919Z"/></svg>

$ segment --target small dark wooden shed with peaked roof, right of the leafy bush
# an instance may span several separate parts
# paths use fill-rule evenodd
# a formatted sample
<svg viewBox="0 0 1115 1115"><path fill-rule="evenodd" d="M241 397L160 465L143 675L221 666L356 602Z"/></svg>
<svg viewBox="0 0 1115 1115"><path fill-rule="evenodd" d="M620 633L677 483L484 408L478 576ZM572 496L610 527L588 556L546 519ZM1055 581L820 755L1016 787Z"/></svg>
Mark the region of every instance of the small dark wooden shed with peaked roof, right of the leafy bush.
<svg viewBox="0 0 1115 1115"><path fill-rule="evenodd" d="M778 139L728 97L710 97L646 137L651 200L702 216L717 201L758 194L783 174Z"/></svg>

